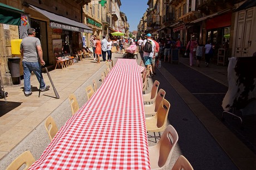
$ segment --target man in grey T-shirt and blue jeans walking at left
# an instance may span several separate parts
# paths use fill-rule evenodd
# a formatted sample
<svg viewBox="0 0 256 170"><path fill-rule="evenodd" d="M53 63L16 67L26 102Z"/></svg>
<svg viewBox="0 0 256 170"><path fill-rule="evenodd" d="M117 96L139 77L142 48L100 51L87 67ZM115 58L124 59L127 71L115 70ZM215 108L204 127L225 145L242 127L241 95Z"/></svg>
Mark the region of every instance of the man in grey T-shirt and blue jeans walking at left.
<svg viewBox="0 0 256 170"><path fill-rule="evenodd" d="M46 86L43 81L41 66L45 65L43 61L43 51L40 40L36 37L36 30L34 28L28 28L28 37L22 39L20 52L23 66L24 75L24 94L30 96L31 91L31 72L35 73L38 82L40 83L41 92L45 92L50 89L50 86Z"/></svg>

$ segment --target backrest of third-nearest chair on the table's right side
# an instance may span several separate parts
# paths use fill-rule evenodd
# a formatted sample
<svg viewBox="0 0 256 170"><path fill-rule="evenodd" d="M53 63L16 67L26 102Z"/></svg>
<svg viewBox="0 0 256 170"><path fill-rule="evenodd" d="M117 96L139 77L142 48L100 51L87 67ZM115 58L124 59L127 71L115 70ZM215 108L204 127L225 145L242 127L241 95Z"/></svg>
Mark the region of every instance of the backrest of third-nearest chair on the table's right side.
<svg viewBox="0 0 256 170"><path fill-rule="evenodd" d="M157 109L155 116L157 117L156 126L159 128L159 132L163 132L166 128L167 117L171 104L163 99Z"/></svg>

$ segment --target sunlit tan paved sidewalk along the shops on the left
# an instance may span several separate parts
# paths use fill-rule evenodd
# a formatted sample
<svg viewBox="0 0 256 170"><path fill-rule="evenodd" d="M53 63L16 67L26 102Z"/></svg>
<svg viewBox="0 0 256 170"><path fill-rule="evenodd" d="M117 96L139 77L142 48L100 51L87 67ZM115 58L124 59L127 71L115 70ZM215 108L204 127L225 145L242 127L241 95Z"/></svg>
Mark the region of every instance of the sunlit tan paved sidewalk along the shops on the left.
<svg viewBox="0 0 256 170"><path fill-rule="evenodd" d="M31 77L33 94L29 97L24 96L23 80L19 85L4 87L4 90L8 92L8 97L7 101L0 99L0 114L4 114L0 117L0 159L11 152L38 124L55 111L71 93L75 92L78 87L102 69L103 66L106 66L105 62L97 64L93 61L93 58L86 58L68 68L50 71L50 76L60 99L55 98L55 93L46 73L43 73L43 77L46 84L50 85L51 88L49 91L41 92L40 97L38 97L39 83L35 75ZM99 79L100 73L98 73ZM86 94L84 95L86 96ZM80 103L81 105L82 103Z"/></svg>

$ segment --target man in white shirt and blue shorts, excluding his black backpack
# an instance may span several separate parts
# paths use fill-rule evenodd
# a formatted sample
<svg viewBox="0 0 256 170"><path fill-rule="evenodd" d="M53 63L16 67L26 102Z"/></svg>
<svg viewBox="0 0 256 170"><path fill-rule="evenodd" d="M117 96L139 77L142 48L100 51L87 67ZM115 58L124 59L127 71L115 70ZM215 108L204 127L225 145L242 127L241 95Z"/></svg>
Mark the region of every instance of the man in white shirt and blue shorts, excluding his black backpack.
<svg viewBox="0 0 256 170"><path fill-rule="evenodd" d="M154 73L152 72L151 62L152 62L153 56L155 56L156 45L155 45L155 42L152 40L150 33L146 34L146 39L143 42L144 47L145 47L147 40L149 40L150 43L152 44L152 51L149 53L149 52L145 52L145 50L144 50L143 56L144 56L145 66L147 67L147 69L150 69L150 74L152 77L152 76L154 76Z"/></svg>

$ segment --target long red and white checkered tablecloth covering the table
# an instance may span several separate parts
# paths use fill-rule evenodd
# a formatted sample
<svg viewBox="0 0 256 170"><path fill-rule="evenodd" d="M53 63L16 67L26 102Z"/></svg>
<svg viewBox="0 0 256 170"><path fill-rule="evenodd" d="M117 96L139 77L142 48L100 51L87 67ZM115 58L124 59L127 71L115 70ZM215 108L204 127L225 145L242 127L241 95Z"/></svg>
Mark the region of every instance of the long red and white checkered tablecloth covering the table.
<svg viewBox="0 0 256 170"><path fill-rule="evenodd" d="M137 66L117 63L29 169L150 169Z"/></svg>

